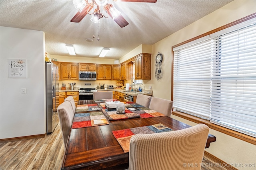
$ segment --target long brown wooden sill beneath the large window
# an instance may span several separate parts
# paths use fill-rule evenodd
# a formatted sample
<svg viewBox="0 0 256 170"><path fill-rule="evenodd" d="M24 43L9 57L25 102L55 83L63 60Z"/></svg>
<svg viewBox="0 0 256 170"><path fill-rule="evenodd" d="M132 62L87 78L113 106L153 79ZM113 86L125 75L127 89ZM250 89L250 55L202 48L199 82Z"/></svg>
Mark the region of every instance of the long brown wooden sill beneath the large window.
<svg viewBox="0 0 256 170"><path fill-rule="evenodd" d="M214 123L211 123L208 120L204 120L204 119L200 119L198 117L192 116L192 115L188 115L186 113L181 113L179 111L172 111L173 115L176 115L178 117L182 117L184 119L187 119L189 121L195 122L195 123L204 123L206 124L210 129L214 129L216 131L219 131L221 133L224 133L226 135L230 135L232 137L235 137L237 139L240 139L242 141L246 141L248 143L251 143L253 145L256 145L256 138L251 137L249 135L245 135L243 133L237 132L237 131L233 131L231 129L219 126L219 125L215 125Z"/></svg>

